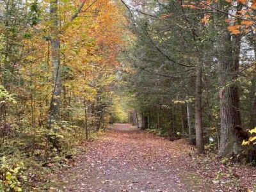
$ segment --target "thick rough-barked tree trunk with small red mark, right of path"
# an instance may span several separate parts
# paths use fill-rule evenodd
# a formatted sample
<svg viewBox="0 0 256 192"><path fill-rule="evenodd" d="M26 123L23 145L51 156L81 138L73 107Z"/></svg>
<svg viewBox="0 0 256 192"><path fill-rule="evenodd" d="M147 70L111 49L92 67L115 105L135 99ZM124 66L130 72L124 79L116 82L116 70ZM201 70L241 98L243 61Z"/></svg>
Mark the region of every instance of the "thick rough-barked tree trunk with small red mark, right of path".
<svg viewBox="0 0 256 192"><path fill-rule="evenodd" d="M233 46L230 34L220 35L217 40L218 77L220 90L220 146L218 156L230 156L239 148L235 127L241 126L239 112L238 87L234 80L239 69L239 36L233 36ZM236 148L235 148L236 147ZM236 151L235 151L236 150Z"/></svg>

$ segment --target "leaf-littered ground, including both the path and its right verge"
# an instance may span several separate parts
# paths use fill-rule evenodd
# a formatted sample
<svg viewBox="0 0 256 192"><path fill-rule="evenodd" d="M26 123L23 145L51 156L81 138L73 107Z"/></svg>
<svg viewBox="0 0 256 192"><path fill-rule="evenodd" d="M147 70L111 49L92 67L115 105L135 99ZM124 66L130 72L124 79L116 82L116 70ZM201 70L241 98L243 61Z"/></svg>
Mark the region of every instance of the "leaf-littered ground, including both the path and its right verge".
<svg viewBox="0 0 256 192"><path fill-rule="evenodd" d="M47 176L45 190L248 191L256 179L255 168L195 157L186 140L169 141L129 124L112 125L84 148L70 166Z"/></svg>

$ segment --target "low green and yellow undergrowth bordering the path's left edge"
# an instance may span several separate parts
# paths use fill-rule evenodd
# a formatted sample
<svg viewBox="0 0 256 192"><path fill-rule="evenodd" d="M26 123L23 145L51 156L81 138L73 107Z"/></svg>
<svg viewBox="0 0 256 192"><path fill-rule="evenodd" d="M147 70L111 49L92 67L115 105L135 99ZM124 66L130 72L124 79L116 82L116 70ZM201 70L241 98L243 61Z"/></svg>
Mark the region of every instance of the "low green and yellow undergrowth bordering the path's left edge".
<svg viewBox="0 0 256 192"><path fill-rule="evenodd" d="M48 172L67 166L67 159L76 155L81 142L86 140L84 127L63 121L49 130L26 130L31 129L19 129L1 138L0 191L26 191L34 182L43 181ZM91 131L90 140L99 134L102 131Z"/></svg>

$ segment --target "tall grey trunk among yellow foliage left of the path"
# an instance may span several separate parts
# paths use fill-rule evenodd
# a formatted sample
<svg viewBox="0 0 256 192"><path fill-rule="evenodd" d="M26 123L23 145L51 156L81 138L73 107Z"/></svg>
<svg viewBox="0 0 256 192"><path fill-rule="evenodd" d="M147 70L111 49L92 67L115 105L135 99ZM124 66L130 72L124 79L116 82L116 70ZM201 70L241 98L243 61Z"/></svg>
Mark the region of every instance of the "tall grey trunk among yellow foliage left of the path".
<svg viewBox="0 0 256 192"><path fill-rule="evenodd" d="M54 87L50 106L51 120L58 120L60 115L61 103L61 67L60 67L60 37L59 35L59 18L58 18L58 0L51 1L51 20L52 26L52 79Z"/></svg>

